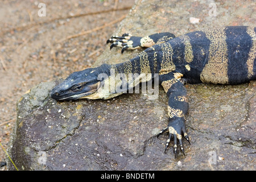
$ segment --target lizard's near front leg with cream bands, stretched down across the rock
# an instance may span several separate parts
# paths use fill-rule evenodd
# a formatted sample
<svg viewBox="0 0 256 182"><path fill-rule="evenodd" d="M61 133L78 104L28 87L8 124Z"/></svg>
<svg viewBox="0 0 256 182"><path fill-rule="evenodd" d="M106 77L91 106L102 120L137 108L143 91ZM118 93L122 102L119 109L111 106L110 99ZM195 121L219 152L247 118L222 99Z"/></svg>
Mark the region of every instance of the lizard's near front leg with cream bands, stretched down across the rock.
<svg viewBox="0 0 256 182"><path fill-rule="evenodd" d="M168 100L168 125L163 130L159 131L157 137L164 132L169 132L169 137L166 142L164 152L166 152L169 143L174 138L174 153L177 154L177 140L179 140L180 149L184 154L182 135L189 142L189 138L185 127L185 114L188 111L187 90L184 85L179 81L182 74L168 73L160 75L159 80L169 98ZM185 154L184 154L185 155Z"/></svg>

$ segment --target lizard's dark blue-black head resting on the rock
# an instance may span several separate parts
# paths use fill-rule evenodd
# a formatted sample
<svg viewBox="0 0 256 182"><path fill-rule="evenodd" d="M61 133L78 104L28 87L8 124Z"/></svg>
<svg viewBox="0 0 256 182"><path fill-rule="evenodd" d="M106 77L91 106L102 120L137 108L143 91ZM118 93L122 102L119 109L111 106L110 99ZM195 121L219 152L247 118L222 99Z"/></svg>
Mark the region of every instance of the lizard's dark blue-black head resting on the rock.
<svg viewBox="0 0 256 182"><path fill-rule="evenodd" d="M57 101L68 101L96 93L101 83L98 80L99 70L97 67L72 73L51 90L51 97Z"/></svg>

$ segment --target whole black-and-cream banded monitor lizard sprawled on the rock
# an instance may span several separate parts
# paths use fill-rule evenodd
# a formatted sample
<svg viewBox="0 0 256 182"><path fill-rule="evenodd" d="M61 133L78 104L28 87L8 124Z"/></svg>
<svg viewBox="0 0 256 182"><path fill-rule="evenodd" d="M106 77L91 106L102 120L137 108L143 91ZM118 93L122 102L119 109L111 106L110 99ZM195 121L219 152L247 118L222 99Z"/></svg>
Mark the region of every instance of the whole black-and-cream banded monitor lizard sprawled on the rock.
<svg viewBox="0 0 256 182"><path fill-rule="evenodd" d="M182 136L189 142L184 118L188 111L184 84L241 84L256 78L256 27L208 28L176 38L169 32L145 37L123 34L112 36L107 43L112 43L110 49L122 47L122 53L126 49L146 49L124 63L102 64L72 73L52 89L51 97L58 101L109 99L158 75L168 97L169 121L157 136L169 132L164 152L174 138L175 156L177 141L183 154ZM104 78L100 78L102 74ZM133 79L129 79L129 74L134 75ZM118 92L113 85L122 85L122 89Z"/></svg>

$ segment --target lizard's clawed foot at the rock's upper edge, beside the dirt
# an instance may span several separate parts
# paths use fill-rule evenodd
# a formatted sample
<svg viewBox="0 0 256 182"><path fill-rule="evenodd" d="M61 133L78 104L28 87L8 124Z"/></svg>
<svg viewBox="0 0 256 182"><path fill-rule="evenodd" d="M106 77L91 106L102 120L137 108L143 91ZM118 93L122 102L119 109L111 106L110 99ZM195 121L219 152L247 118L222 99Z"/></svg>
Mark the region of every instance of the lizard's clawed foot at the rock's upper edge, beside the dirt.
<svg viewBox="0 0 256 182"><path fill-rule="evenodd" d="M121 53L123 53L127 49L136 49L140 47L139 40L141 40L141 37L132 36L131 34L123 34L122 36L112 36L106 43L112 43L110 49L113 47L122 47Z"/></svg>

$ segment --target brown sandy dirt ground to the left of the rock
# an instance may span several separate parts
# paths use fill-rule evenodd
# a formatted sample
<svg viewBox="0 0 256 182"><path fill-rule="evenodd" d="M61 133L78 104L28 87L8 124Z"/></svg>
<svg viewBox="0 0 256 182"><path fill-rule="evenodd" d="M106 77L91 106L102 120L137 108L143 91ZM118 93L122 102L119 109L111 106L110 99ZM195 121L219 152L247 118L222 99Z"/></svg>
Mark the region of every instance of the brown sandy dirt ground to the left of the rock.
<svg viewBox="0 0 256 182"><path fill-rule="evenodd" d="M0 2L0 142L5 150L16 101L40 82L90 67L134 5L134 0L42 2L45 9L36 0ZM6 160L0 147L0 162Z"/></svg>

